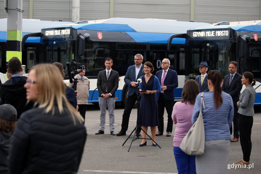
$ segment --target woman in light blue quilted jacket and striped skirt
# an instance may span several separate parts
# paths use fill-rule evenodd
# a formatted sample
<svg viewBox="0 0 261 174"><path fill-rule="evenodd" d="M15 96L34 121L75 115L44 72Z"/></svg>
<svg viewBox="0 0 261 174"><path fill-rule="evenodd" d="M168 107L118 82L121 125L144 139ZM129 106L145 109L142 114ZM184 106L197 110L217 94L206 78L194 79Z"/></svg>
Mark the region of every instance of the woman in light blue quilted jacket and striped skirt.
<svg viewBox="0 0 261 174"><path fill-rule="evenodd" d="M231 138L229 128L234 115L233 102L231 96L221 90L222 75L219 71L210 71L207 77L209 92L204 93L206 109L202 108L205 148L202 155L196 155L196 172L227 173ZM201 93L196 97L192 124L200 112L200 95Z"/></svg>

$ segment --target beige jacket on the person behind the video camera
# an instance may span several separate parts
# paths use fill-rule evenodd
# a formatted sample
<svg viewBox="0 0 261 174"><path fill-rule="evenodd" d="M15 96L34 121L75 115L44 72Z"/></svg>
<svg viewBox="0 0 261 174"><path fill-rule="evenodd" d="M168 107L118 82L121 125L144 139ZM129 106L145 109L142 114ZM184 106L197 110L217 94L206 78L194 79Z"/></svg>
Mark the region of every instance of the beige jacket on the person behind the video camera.
<svg viewBox="0 0 261 174"><path fill-rule="evenodd" d="M78 79L77 83L77 104L88 104L88 98L89 98L89 90L90 90L90 80L83 76L84 80L80 79L78 75L76 75L74 78ZM69 87L72 87L73 84L70 83L68 85Z"/></svg>

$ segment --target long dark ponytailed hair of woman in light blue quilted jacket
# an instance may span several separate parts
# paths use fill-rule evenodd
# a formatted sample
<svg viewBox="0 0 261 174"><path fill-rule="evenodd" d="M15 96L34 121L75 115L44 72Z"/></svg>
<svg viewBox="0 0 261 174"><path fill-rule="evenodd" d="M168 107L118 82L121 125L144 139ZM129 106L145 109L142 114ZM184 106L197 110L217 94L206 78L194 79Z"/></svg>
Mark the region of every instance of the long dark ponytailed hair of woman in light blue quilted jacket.
<svg viewBox="0 0 261 174"><path fill-rule="evenodd" d="M214 102L215 102L216 109L218 109L218 107L220 107L223 102L221 96L222 89L220 86L222 82L222 75L217 70L209 71L208 80L210 80L214 86Z"/></svg>

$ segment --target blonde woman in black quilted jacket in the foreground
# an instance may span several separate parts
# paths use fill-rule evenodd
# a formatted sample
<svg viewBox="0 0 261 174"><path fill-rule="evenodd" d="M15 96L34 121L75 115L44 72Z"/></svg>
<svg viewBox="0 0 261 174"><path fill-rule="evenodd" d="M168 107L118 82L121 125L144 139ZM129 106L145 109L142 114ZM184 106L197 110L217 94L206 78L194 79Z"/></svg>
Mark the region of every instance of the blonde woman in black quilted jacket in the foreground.
<svg viewBox="0 0 261 174"><path fill-rule="evenodd" d="M86 129L66 99L59 69L51 64L33 67L24 87L26 98L37 107L17 122L9 173L77 173Z"/></svg>

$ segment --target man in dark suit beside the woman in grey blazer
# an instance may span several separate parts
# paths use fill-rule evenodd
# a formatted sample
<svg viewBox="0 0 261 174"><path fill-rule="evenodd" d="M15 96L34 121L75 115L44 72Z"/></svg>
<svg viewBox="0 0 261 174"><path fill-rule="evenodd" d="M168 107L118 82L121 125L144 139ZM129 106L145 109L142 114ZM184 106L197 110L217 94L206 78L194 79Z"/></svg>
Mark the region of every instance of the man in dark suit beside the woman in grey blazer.
<svg viewBox="0 0 261 174"><path fill-rule="evenodd" d="M229 63L229 75L226 75L222 84L222 91L231 95L234 105L234 117L233 117L233 126L234 126L234 138L231 142L238 142L239 139L239 128L238 128L238 106L237 102L239 101L240 91L242 89L241 79L242 75L237 73L238 63L236 61L231 61ZM230 134L232 135L232 125L230 127Z"/></svg>

